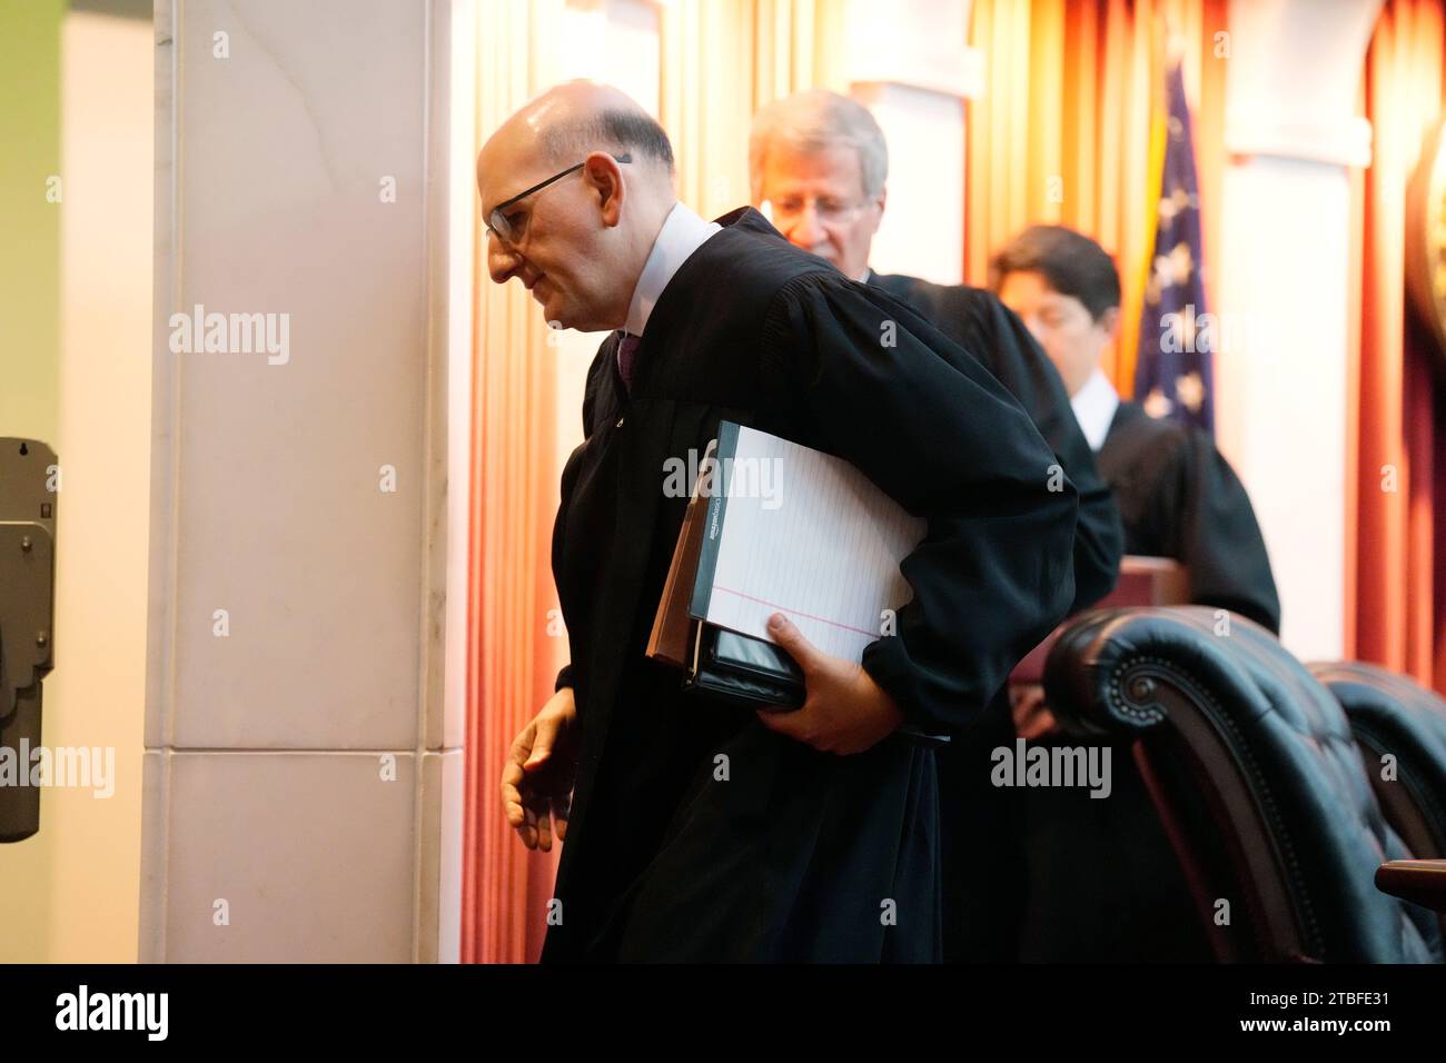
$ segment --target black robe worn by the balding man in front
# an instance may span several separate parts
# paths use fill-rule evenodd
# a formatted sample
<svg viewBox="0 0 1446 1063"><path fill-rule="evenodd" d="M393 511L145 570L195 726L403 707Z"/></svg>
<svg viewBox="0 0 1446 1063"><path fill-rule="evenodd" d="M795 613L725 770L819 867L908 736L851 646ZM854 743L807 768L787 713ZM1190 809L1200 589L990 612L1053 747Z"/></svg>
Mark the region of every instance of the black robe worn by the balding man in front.
<svg viewBox="0 0 1446 1063"><path fill-rule="evenodd" d="M630 393L616 340L599 350L562 473L558 683L581 751L542 959L937 960L933 751L892 735L820 754L646 659L685 506L665 461L727 418L839 454L925 516L902 565L914 599L863 667L949 733L1069 609L1076 492L1047 489L1027 414L923 318L753 210L720 221L662 292Z"/></svg>

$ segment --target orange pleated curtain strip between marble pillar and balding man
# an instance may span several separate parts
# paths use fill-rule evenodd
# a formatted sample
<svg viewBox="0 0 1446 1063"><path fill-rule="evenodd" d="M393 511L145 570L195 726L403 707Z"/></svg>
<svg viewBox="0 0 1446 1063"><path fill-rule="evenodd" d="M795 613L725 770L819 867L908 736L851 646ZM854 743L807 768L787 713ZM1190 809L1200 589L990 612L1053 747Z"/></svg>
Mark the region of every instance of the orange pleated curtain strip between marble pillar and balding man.
<svg viewBox="0 0 1446 1063"><path fill-rule="evenodd" d="M477 6L477 143L551 84L561 0ZM474 210L479 205L474 198ZM565 639L548 635L557 351L518 285L487 281L473 218L473 412L463 823L463 962L521 962L541 947L557 852L528 852L502 817L508 748L552 693Z"/></svg>

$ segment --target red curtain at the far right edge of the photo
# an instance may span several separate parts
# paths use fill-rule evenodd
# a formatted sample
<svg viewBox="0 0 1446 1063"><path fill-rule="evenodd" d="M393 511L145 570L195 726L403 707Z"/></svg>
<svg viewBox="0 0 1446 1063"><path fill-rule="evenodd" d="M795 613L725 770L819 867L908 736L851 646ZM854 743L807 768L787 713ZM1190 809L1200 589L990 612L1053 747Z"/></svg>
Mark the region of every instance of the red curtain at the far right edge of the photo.
<svg viewBox="0 0 1446 1063"><path fill-rule="evenodd" d="M1440 119L1443 0L1388 0L1365 71L1374 158L1361 188L1361 343L1352 367L1346 655L1446 693L1446 399L1406 302L1406 187Z"/></svg>

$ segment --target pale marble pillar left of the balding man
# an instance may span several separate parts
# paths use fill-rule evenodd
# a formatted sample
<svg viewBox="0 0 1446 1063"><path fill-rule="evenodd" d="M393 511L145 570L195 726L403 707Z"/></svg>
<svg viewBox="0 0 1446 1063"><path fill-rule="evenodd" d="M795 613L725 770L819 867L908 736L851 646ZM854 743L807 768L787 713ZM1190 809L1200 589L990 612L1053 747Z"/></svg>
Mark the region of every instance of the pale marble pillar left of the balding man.
<svg viewBox="0 0 1446 1063"><path fill-rule="evenodd" d="M156 7L142 959L454 956L450 4ZM172 353L197 304L288 356Z"/></svg>

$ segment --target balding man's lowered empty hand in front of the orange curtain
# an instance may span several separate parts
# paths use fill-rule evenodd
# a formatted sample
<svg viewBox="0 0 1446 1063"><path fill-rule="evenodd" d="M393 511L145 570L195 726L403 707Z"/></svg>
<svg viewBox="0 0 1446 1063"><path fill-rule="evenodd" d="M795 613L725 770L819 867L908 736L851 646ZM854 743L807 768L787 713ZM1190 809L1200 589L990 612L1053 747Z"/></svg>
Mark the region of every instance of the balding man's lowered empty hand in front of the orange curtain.
<svg viewBox="0 0 1446 1063"><path fill-rule="evenodd" d="M548 699L512 740L502 769L502 814L528 849L551 852L552 834L567 839L577 777L577 706L573 688Z"/></svg>

